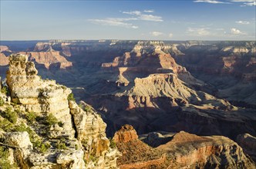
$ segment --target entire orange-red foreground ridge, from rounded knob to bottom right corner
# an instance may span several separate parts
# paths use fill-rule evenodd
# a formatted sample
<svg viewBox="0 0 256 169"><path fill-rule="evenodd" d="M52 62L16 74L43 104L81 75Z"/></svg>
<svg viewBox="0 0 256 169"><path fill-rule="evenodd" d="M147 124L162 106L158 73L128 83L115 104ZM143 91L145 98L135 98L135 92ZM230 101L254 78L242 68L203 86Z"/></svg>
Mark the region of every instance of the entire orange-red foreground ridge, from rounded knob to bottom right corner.
<svg viewBox="0 0 256 169"><path fill-rule="evenodd" d="M136 134L136 131L126 125L114 138L130 138L131 133ZM123 157L118 160L120 168L255 168L241 147L228 138L200 137L180 131L168 139L170 141L156 148L148 147L136 138L124 142L114 140L123 152Z"/></svg>

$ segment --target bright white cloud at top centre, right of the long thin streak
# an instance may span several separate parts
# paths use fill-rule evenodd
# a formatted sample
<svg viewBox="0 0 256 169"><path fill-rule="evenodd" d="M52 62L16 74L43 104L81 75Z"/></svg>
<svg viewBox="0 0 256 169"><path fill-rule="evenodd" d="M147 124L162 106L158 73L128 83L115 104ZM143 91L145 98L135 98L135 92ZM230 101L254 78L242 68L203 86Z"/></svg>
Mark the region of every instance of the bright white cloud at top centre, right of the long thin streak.
<svg viewBox="0 0 256 169"><path fill-rule="evenodd" d="M153 11L150 11L150 12L153 12ZM123 14L136 15L138 20L142 20L142 21L163 22L163 19L160 16L143 14L140 11L123 12Z"/></svg>

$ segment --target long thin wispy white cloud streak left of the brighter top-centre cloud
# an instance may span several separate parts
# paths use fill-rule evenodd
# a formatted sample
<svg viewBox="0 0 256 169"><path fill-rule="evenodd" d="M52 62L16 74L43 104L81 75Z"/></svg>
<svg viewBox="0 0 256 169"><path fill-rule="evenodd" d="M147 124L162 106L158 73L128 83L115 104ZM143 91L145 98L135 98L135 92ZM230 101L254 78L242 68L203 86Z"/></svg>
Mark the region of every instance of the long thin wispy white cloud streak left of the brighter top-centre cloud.
<svg viewBox="0 0 256 169"><path fill-rule="evenodd" d="M133 20L133 18L106 18L106 19L89 19L89 22L93 22L99 25L110 25L110 26L120 26L124 28L139 28L136 25L126 23L123 21Z"/></svg>

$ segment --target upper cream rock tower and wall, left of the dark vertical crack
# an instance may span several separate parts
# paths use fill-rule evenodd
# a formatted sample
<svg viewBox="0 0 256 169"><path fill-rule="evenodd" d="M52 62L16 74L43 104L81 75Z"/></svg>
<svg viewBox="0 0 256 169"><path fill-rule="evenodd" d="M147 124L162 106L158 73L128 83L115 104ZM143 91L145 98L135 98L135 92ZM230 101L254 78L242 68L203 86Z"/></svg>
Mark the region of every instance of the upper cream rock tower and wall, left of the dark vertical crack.
<svg viewBox="0 0 256 169"><path fill-rule="evenodd" d="M69 88L56 85L55 81L42 80L37 75L33 62L26 55L10 55L10 66L7 73L7 85L10 88L12 101L22 104L25 111L35 113L52 113L63 123L63 131L56 137L73 138L71 114L69 114Z"/></svg>

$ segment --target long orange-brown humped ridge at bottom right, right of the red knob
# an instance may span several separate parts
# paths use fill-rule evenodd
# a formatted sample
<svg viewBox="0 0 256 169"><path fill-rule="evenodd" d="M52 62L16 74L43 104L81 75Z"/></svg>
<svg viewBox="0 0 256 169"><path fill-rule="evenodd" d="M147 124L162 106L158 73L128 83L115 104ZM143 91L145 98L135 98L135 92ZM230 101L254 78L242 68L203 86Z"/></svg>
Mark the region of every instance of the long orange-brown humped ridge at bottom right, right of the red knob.
<svg viewBox="0 0 256 169"><path fill-rule="evenodd" d="M182 131L157 149L167 152L171 168L255 168L239 145L222 136L200 137Z"/></svg>

